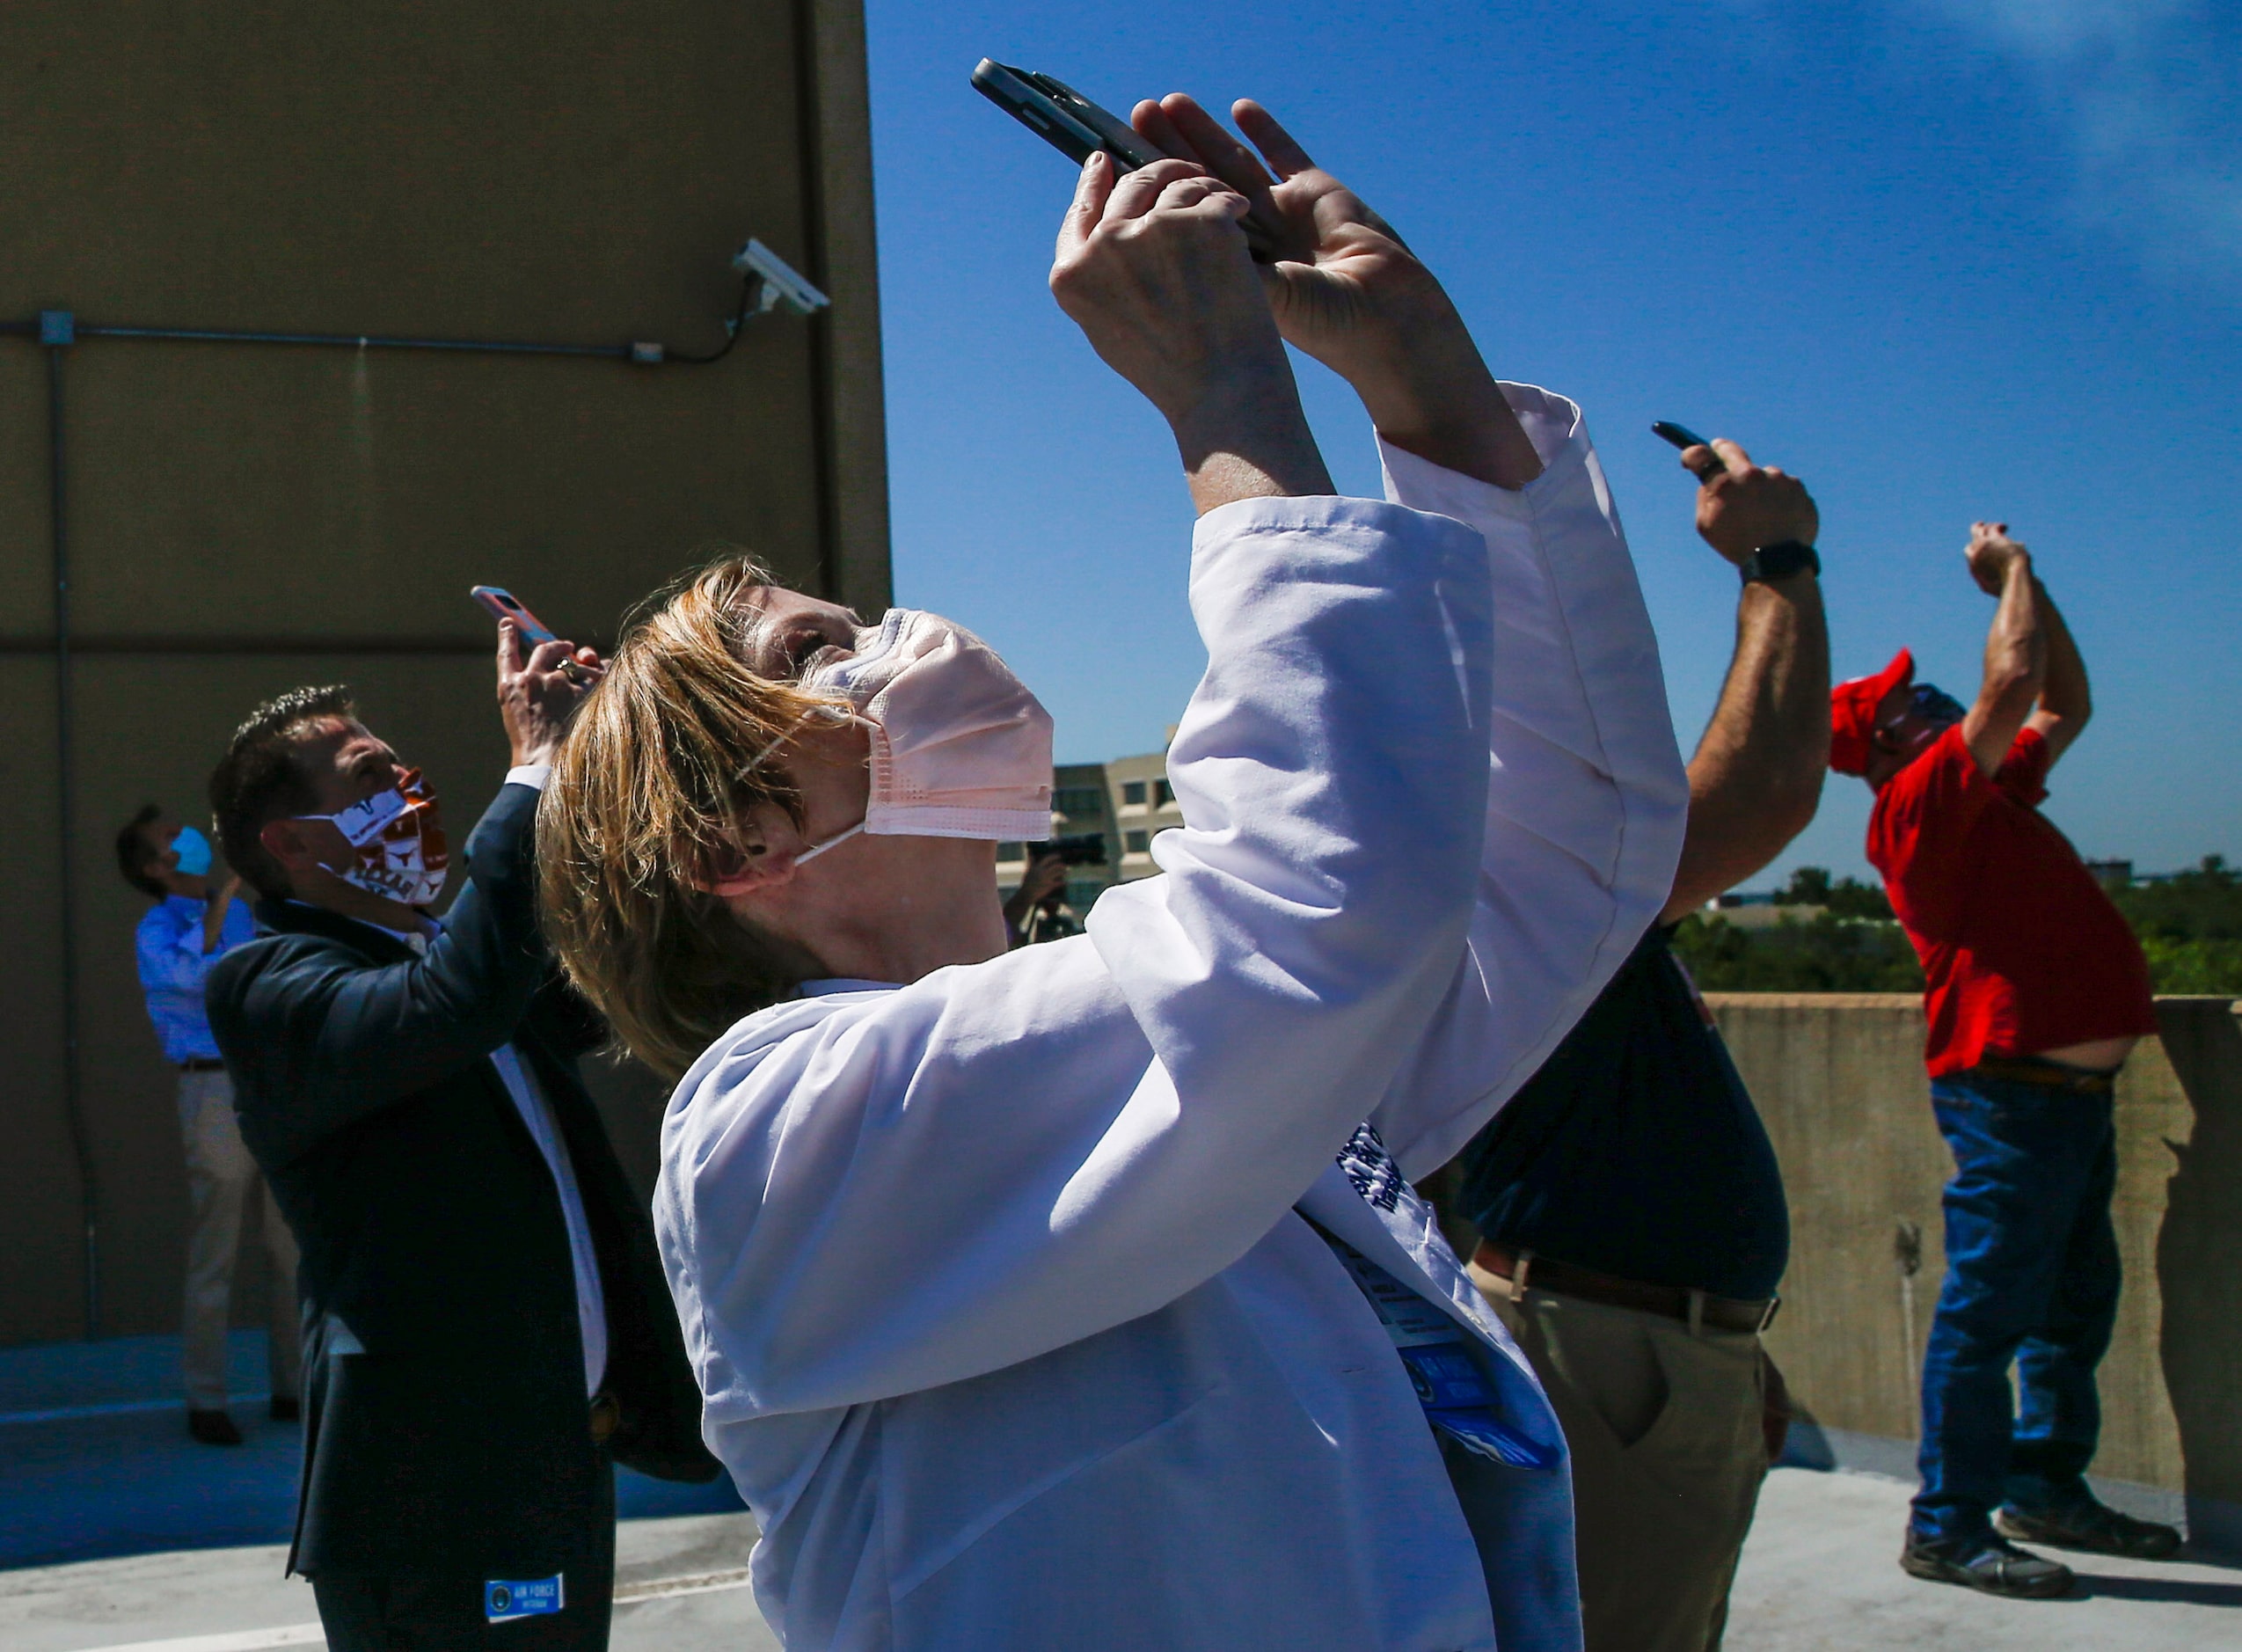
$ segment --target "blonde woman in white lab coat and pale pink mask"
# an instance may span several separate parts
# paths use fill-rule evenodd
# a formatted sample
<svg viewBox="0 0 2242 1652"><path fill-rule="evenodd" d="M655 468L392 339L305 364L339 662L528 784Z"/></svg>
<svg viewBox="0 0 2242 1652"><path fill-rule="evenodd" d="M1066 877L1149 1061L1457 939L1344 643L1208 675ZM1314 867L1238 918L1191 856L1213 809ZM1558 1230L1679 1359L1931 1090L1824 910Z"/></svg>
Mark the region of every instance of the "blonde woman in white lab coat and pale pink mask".
<svg viewBox="0 0 2242 1652"><path fill-rule="evenodd" d="M1578 1645L1563 1437L1406 1177L1666 899L1686 785L1578 410L1256 105L1092 157L1051 289L1166 415L1208 668L1166 876L1004 950L1049 720L969 632L717 567L545 793L576 982L789 1648ZM1256 267L1251 208L1282 262ZM1280 338L1361 392L1334 498Z"/></svg>

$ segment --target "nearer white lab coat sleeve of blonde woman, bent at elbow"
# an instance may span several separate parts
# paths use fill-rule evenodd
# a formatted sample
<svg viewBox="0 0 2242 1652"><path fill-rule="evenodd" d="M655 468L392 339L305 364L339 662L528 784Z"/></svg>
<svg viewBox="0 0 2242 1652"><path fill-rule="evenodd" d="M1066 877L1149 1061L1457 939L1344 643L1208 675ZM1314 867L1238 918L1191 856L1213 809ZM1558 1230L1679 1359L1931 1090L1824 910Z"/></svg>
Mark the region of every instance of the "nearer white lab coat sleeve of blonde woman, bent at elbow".
<svg viewBox="0 0 2242 1652"><path fill-rule="evenodd" d="M1395 504L1208 513L1168 876L1083 937L782 1004L702 1058L655 1226L711 1426L1076 1343L1285 1219L1464 953L1486 569L1475 531Z"/></svg>

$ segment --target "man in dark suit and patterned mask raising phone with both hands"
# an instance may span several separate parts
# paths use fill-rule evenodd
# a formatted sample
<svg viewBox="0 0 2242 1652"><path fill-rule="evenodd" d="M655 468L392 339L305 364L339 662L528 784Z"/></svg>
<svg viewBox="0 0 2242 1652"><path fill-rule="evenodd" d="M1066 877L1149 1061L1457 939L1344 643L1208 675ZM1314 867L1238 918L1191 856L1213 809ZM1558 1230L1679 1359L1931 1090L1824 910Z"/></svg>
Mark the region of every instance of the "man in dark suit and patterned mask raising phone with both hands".
<svg viewBox="0 0 2242 1652"><path fill-rule="evenodd" d="M211 776L265 897L209 980L242 1139L303 1249L289 1569L334 1652L605 1648L614 1470L711 1479L700 1392L538 939L538 791L596 657L500 628L513 769L446 845L341 688L260 706Z"/></svg>

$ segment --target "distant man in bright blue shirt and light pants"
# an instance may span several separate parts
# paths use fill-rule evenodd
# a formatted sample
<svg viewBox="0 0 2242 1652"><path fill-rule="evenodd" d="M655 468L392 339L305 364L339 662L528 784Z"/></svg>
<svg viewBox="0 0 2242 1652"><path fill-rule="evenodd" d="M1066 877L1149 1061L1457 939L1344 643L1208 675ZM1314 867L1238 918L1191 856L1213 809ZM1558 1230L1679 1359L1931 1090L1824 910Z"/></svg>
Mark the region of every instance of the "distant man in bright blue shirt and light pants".
<svg viewBox="0 0 2242 1652"><path fill-rule="evenodd" d="M152 802L117 832L117 870L155 901L139 921L135 948L148 1020L164 1042L164 1060L179 1069L188 1192L186 1307L179 1320L186 1430L204 1446L240 1446L242 1430L226 1414L226 1307L242 1208L262 1188L262 1177L233 1123L233 1083L211 1038L202 982L229 946L256 932L256 924L249 906L235 899L240 879L211 890L211 841ZM271 1206L262 1233L274 1266L267 1291L271 1414L291 1421L298 1412L296 1240Z"/></svg>

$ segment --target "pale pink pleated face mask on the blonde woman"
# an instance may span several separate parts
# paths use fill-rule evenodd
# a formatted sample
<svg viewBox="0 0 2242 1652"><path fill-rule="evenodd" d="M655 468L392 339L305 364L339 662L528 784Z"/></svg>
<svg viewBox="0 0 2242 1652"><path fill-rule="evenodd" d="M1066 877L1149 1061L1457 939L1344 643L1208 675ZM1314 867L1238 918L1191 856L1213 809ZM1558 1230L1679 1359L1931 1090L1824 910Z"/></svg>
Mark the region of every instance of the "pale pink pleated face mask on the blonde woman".
<svg viewBox="0 0 2242 1652"><path fill-rule="evenodd" d="M850 659L803 686L856 708L872 740L872 785L863 823L803 850L796 865L859 832L989 843L1051 836L1051 713L964 625L890 607L859 632Z"/></svg>

